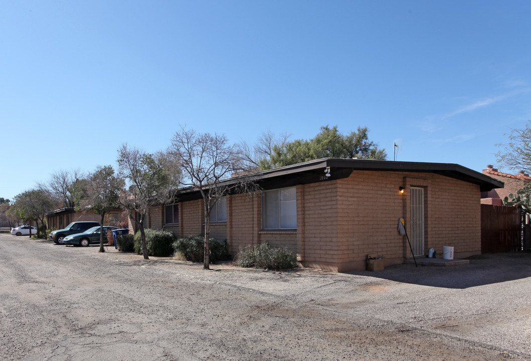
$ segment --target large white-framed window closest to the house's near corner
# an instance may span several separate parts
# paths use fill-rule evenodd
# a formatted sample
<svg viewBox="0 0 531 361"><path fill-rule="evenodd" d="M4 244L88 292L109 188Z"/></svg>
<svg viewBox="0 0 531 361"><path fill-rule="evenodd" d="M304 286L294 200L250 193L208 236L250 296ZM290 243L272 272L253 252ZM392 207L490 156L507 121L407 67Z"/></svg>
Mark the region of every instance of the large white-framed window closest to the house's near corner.
<svg viewBox="0 0 531 361"><path fill-rule="evenodd" d="M297 228L295 187L268 190L262 193L262 228L264 230Z"/></svg>

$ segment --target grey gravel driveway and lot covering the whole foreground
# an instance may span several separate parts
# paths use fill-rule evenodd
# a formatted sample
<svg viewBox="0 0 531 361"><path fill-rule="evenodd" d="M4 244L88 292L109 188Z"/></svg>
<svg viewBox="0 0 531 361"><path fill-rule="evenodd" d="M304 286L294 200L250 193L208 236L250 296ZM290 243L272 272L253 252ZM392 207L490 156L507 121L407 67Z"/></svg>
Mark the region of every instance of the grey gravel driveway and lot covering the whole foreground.
<svg viewBox="0 0 531 361"><path fill-rule="evenodd" d="M0 234L0 359L531 360L531 254L272 272Z"/></svg>

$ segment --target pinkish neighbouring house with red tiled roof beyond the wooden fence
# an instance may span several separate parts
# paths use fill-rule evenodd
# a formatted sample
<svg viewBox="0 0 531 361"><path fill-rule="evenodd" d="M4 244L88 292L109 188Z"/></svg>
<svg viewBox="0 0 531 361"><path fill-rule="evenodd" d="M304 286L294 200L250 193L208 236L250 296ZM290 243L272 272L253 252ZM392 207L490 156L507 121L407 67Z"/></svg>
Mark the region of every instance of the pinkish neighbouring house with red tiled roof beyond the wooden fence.
<svg viewBox="0 0 531 361"><path fill-rule="evenodd" d="M487 169L483 170L483 174L489 177L504 182L504 187L499 189L492 189L488 192L481 193L481 204L492 204L495 206L503 205L503 198L508 197L509 193L516 194L516 191L523 188L527 182L531 181L529 174L520 171L518 174L509 174L498 172L498 169L492 168L492 165L487 165Z"/></svg>

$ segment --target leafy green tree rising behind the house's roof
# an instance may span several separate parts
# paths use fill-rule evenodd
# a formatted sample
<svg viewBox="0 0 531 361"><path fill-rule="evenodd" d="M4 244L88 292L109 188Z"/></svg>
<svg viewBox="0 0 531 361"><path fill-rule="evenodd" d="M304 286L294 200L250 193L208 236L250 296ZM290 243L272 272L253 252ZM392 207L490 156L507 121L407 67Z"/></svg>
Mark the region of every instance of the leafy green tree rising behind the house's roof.
<svg viewBox="0 0 531 361"><path fill-rule="evenodd" d="M319 133L310 140L296 139L274 145L270 155L263 157L261 169L272 169L321 158L359 158L384 160L385 149L369 140L369 129L358 127L348 135L339 133L337 126L321 127Z"/></svg>

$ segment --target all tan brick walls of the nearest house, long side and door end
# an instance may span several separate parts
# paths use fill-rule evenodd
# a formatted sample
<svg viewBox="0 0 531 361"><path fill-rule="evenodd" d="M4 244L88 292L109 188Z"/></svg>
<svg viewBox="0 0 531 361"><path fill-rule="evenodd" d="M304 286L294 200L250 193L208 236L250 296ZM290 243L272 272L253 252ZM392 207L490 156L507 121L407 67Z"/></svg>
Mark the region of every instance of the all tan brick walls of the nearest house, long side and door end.
<svg viewBox="0 0 531 361"><path fill-rule="evenodd" d="M410 234L410 187L424 188L425 254L433 247L442 257L444 245L454 246L455 258L481 252L479 187L432 173L354 171L347 179L297 186L296 231L261 231L259 193L229 196L227 222L211 224L210 234L227 239L231 254L267 241L296 251L305 266L333 271L365 269L368 253L386 265L401 263L409 247L397 225L404 218ZM202 234L202 205L179 205L180 235ZM162 213L153 210L153 225L162 224Z"/></svg>

